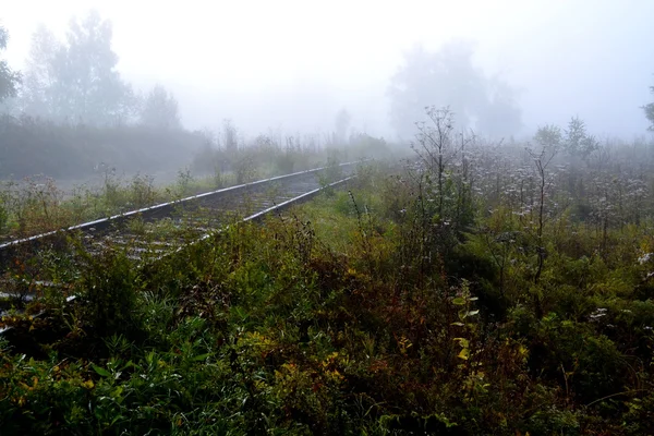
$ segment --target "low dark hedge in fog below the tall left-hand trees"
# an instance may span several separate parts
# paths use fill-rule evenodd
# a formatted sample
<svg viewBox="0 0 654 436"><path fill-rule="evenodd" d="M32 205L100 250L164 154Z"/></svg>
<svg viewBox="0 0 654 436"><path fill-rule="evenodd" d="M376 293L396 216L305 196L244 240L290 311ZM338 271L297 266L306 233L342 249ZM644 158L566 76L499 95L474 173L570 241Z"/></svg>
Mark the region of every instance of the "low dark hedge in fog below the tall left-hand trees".
<svg viewBox="0 0 654 436"><path fill-rule="evenodd" d="M105 169L178 170L191 164L204 137L144 125L61 124L29 117L0 118L0 179L45 174L83 179Z"/></svg>

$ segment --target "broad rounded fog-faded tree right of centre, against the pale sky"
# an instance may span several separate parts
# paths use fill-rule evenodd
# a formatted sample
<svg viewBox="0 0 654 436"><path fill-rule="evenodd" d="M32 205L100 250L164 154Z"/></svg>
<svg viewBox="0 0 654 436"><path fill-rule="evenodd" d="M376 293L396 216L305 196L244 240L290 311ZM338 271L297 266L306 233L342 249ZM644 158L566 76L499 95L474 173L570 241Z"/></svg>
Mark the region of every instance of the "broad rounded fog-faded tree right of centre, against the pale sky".
<svg viewBox="0 0 654 436"><path fill-rule="evenodd" d="M462 129L508 135L520 128L514 92L499 77L487 78L472 62L468 43L449 43L437 52L416 47L391 78L391 119L400 136L414 131L425 108L448 107Z"/></svg>

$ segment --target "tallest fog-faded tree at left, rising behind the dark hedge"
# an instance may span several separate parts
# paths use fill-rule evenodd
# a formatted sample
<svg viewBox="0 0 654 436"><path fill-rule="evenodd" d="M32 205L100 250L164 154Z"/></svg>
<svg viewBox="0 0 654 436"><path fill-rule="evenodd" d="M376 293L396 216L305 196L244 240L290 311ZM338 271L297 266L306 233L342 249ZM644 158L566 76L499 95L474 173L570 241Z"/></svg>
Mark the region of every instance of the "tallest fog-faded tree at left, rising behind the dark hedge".
<svg viewBox="0 0 654 436"><path fill-rule="evenodd" d="M116 70L111 22L92 11L72 19L65 43L44 26L32 38L24 110L59 121L120 123L133 111L134 95Z"/></svg>

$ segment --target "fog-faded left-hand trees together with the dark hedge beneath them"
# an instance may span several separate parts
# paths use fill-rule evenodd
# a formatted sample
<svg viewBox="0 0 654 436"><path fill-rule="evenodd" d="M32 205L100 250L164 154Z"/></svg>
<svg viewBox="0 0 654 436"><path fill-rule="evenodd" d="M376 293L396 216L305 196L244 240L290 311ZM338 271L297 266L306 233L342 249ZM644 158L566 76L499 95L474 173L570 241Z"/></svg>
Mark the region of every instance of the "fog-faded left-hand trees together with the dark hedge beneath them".
<svg viewBox="0 0 654 436"><path fill-rule="evenodd" d="M92 11L63 40L39 26L24 71L0 61L0 178L179 170L203 136L183 130L177 99L160 85L134 90L116 65L111 22ZM0 51L8 32L0 26Z"/></svg>

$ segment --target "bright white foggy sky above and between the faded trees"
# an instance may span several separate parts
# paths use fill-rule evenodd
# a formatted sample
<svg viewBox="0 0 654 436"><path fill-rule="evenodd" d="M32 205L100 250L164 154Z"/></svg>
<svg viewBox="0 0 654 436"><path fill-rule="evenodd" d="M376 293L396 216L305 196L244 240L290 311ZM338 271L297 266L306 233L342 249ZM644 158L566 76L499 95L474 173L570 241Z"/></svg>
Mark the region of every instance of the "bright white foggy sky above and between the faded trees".
<svg viewBox="0 0 654 436"><path fill-rule="evenodd" d="M119 70L160 83L184 125L244 131L330 130L337 111L392 137L386 97L402 52L475 43L475 61L520 89L529 134L574 114L600 136L645 134L654 98L654 1L123 1L2 0L5 56L24 66L38 23L63 37L90 8L113 23Z"/></svg>

